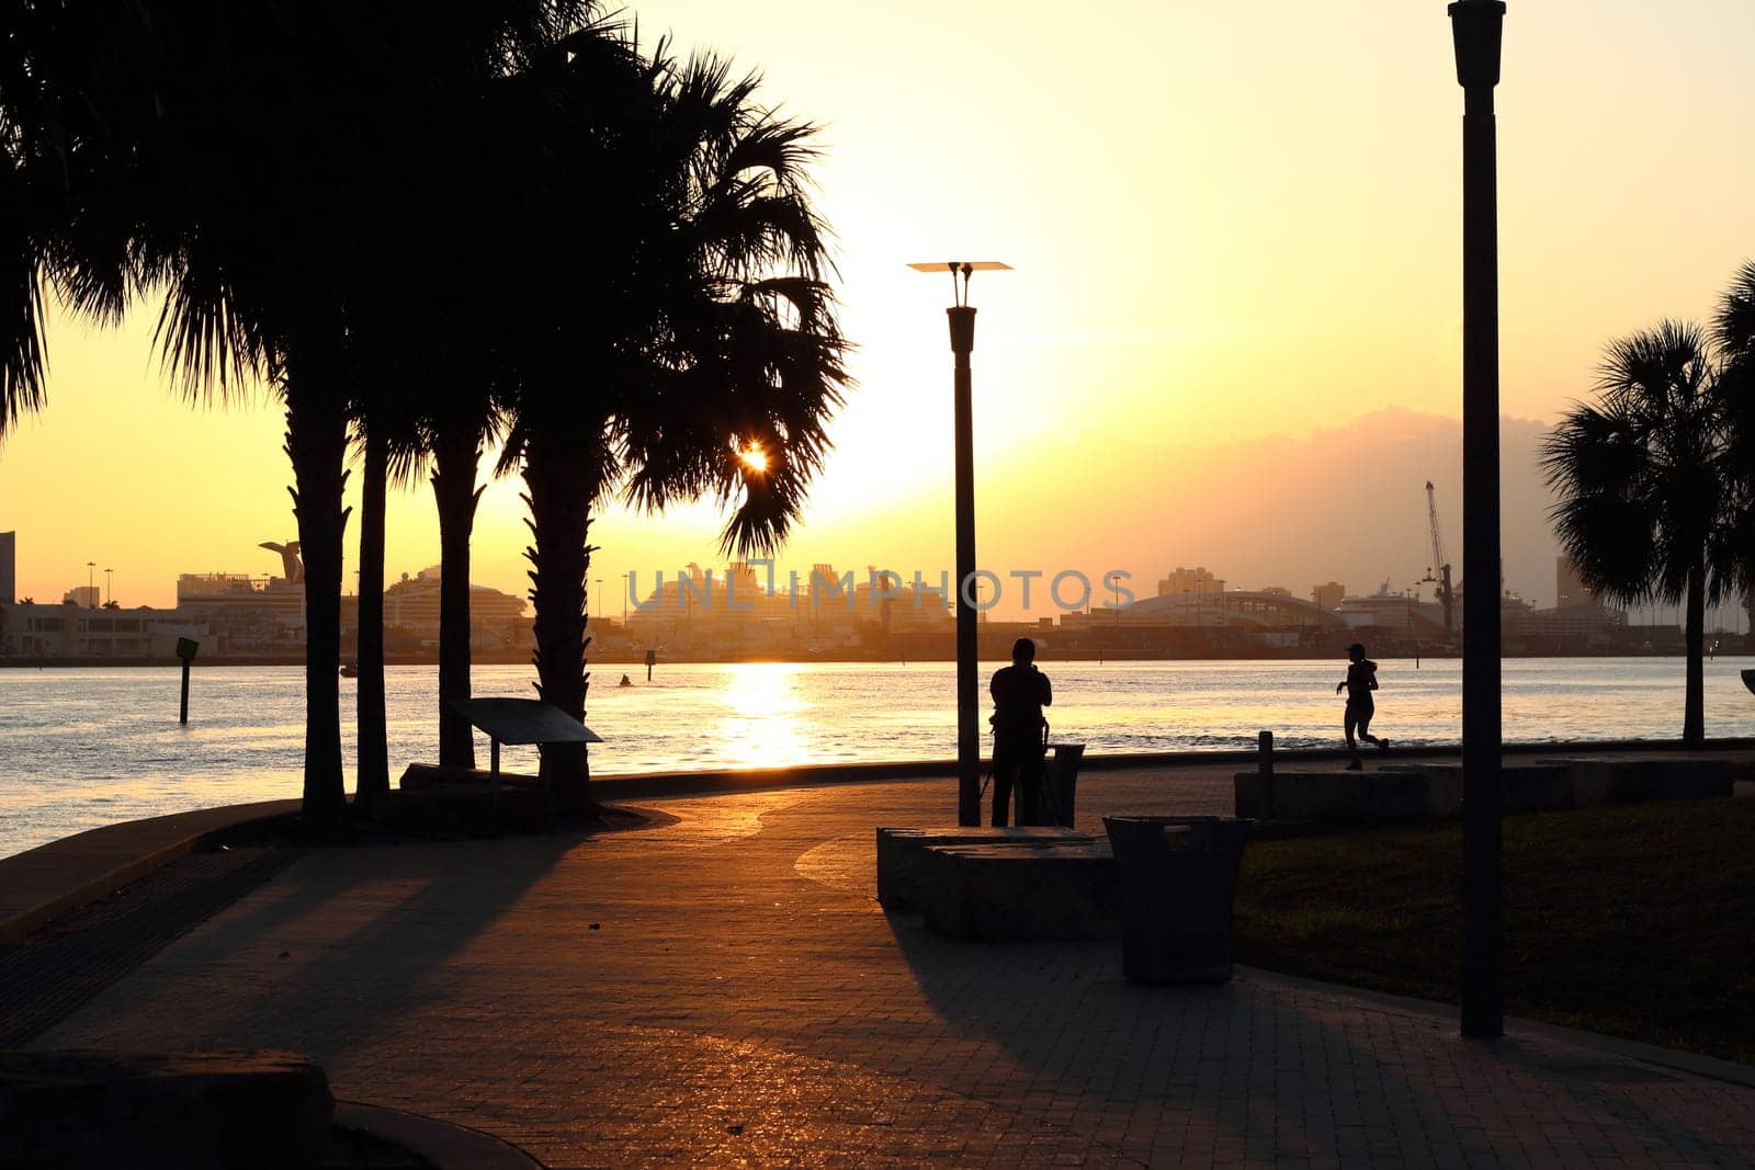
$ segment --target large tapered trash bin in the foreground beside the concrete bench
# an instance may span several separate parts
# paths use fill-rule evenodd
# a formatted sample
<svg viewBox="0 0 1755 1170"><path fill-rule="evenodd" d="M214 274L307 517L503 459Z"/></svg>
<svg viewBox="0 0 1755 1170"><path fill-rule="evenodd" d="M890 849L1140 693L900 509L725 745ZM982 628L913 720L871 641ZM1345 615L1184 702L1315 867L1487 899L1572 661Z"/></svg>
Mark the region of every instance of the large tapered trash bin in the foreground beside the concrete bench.
<svg viewBox="0 0 1755 1170"><path fill-rule="evenodd" d="M1232 903L1251 824L1104 817L1121 881L1121 970L1130 982L1230 979Z"/></svg>

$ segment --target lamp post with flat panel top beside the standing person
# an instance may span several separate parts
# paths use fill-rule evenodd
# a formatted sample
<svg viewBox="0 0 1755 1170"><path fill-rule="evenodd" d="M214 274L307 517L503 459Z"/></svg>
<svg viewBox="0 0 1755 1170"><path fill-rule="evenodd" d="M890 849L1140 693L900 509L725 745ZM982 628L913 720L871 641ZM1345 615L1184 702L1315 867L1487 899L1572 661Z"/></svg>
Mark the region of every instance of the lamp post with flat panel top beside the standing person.
<svg viewBox="0 0 1755 1170"><path fill-rule="evenodd" d="M969 584L976 572L976 451L974 381L969 354L976 347L976 310L969 303L969 274L1009 270L997 260L941 260L909 265L914 272L949 272L951 353L956 354L956 823L981 824L981 731L976 724L976 607ZM962 282L958 284L958 279ZM979 582L976 582L979 586Z"/></svg>

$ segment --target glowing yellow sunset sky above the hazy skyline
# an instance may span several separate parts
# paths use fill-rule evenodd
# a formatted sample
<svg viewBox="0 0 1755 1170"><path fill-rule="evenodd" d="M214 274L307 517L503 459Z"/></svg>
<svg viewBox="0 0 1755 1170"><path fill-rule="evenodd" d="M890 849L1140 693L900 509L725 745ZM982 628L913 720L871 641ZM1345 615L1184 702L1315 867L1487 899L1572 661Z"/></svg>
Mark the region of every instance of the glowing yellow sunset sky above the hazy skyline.
<svg viewBox="0 0 1755 1170"><path fill-rule="evenodd" d="M1348 498L1344 467L1288 484L1395 530L1393 547L1327 568L1274 561L1260 531L1178 523L1223 509L1264 468L1220 465L1199 500L1151 498L1141 468L1153 449L1304 439L1390 407L1458 414L1462 93L1443 0L1155 0L1083 23L997 0L632 12L648 40L670 30L734 53L767 75L770 100L825 126L820 198L860 389L786 561L948 565L948 288L904 265L965 254L1016 267L974 286L985 565L1151 581L1179 563L1220 575L1248 563L1297 591L1336 572L1374 588L1423 570L1418 546L1400 551L1420 539L1420 482L1364 502ZM1511 0L1508 416L1553 419L1588 391L1608 337L1708 312L1755 254L1750 60L1755 19L1736 0ZM123 603L168 605L177 572L267 574L276 560L254 544L293 535L276 414L177 402L149 319L51 333L49 409L0 447L21 595L58 600L97 561ZM1125 472L1121 446L1135 453ZM1032 491L1014 493L1020 481ZM1057 507L1009 505L1044 493ZM1441 482L1457 540L1453 498ZM1121 500L1128 523L1104 523ZM519 512L516 484L490 488L477 581L523 589ZM393 577L437 561L430 493L395 500L390 524ZM609 582L607 609L620 610L621 572L707 561L716 530L707 509L605 517L593 577ZM1534 568L1508 572L1550 596Z"/></svg>

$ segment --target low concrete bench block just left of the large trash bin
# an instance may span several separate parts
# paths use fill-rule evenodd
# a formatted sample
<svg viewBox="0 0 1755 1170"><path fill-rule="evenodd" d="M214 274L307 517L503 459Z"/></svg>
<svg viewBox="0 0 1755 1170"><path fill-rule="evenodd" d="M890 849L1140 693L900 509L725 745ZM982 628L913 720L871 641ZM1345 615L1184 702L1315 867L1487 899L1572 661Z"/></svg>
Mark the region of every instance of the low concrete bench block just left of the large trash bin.
<svg viewBox="0 0 1755 1170"><path fill-rule="evenodd" d="M1109 842L1020 849L928 845L927 926L974 942L1116 938L1121 884Z"/></svg>

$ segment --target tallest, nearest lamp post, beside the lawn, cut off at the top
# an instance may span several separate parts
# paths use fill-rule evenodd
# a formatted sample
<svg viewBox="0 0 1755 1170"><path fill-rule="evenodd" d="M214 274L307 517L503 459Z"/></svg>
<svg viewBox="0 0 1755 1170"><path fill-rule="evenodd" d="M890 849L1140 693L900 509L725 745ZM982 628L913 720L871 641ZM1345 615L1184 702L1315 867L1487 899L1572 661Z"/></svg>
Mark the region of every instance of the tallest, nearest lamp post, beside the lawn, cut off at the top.
<svg viewBox="0 0 1755 1170"><path fill-rule="evenodd" d="M1504 1033L1499 905L1499 181L1502 0L1457 0L1462 116L1462 1035Z"/></svg>

